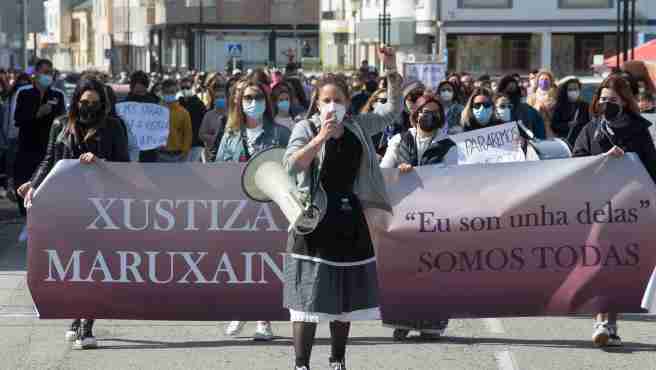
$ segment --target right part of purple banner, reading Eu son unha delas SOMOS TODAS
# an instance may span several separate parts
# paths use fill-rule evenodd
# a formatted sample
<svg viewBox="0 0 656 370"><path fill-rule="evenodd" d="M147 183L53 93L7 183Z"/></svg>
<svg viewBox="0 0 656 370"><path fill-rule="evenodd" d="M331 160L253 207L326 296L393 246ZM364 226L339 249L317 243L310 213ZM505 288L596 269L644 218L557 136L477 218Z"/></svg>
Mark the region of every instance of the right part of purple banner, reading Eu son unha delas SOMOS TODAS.
<svg viewBox="0 0 656 370"><path fill-rule="evenodd" d="M384 319L641 312L656 187L635 155L386 181L393 215L369 211Z"/></svg>

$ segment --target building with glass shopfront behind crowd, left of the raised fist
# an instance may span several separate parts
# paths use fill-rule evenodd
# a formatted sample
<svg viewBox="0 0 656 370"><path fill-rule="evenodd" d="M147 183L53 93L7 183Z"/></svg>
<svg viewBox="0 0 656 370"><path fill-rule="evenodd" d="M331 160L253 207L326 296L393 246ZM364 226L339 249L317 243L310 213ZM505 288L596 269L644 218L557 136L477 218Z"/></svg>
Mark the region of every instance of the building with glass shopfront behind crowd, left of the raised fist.
<svg viewBox="0 0 656 370"><path fill-rule="evenodd" d="M154 10L151 69L223 71L318 55L316 0L176 0Z"/></svg>

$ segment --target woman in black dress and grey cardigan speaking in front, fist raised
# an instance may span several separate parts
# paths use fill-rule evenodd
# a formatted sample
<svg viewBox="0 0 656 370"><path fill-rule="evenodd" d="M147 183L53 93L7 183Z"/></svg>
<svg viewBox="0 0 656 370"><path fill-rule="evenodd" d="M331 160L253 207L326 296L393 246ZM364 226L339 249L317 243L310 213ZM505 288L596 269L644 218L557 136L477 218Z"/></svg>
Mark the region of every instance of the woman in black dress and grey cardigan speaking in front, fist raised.
<svg viewBox="0 0 656 370"><path fill-rule="evenodd" d="M393 70L394 53L381 58ZM388 73L388 100L349 116L346 78L324 75L307 119L294 126L283 162L297 190L322 214L309 233L292 231L285 257L284 306L293 323L296 369L309 369L319 322L330 322L330 369L346 369L350 321L380 317L376 259L365 208L391 210L371 137L401 114L400 76Z"/></svg>

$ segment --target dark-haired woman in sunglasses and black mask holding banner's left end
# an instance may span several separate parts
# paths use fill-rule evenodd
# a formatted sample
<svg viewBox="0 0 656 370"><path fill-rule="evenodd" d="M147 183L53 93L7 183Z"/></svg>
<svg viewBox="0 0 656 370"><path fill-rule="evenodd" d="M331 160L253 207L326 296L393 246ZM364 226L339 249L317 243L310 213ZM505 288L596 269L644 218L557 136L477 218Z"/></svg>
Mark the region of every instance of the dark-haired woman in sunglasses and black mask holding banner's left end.
<svg viewBox="0 0 656 370"><path fill-rule="evenodd" d="M130 161L125 131L121 122L108 114L111 110L108 101L103 84L95 80L80 81L68 115L55 120L52 125L46 156L27 187L26 204L32 203L34 190L61 159L79 159L83 164L99 160ZM93 319L73 321L66 332L66 339L74 341L73 348L97 347L93 323Z"/></svg>

